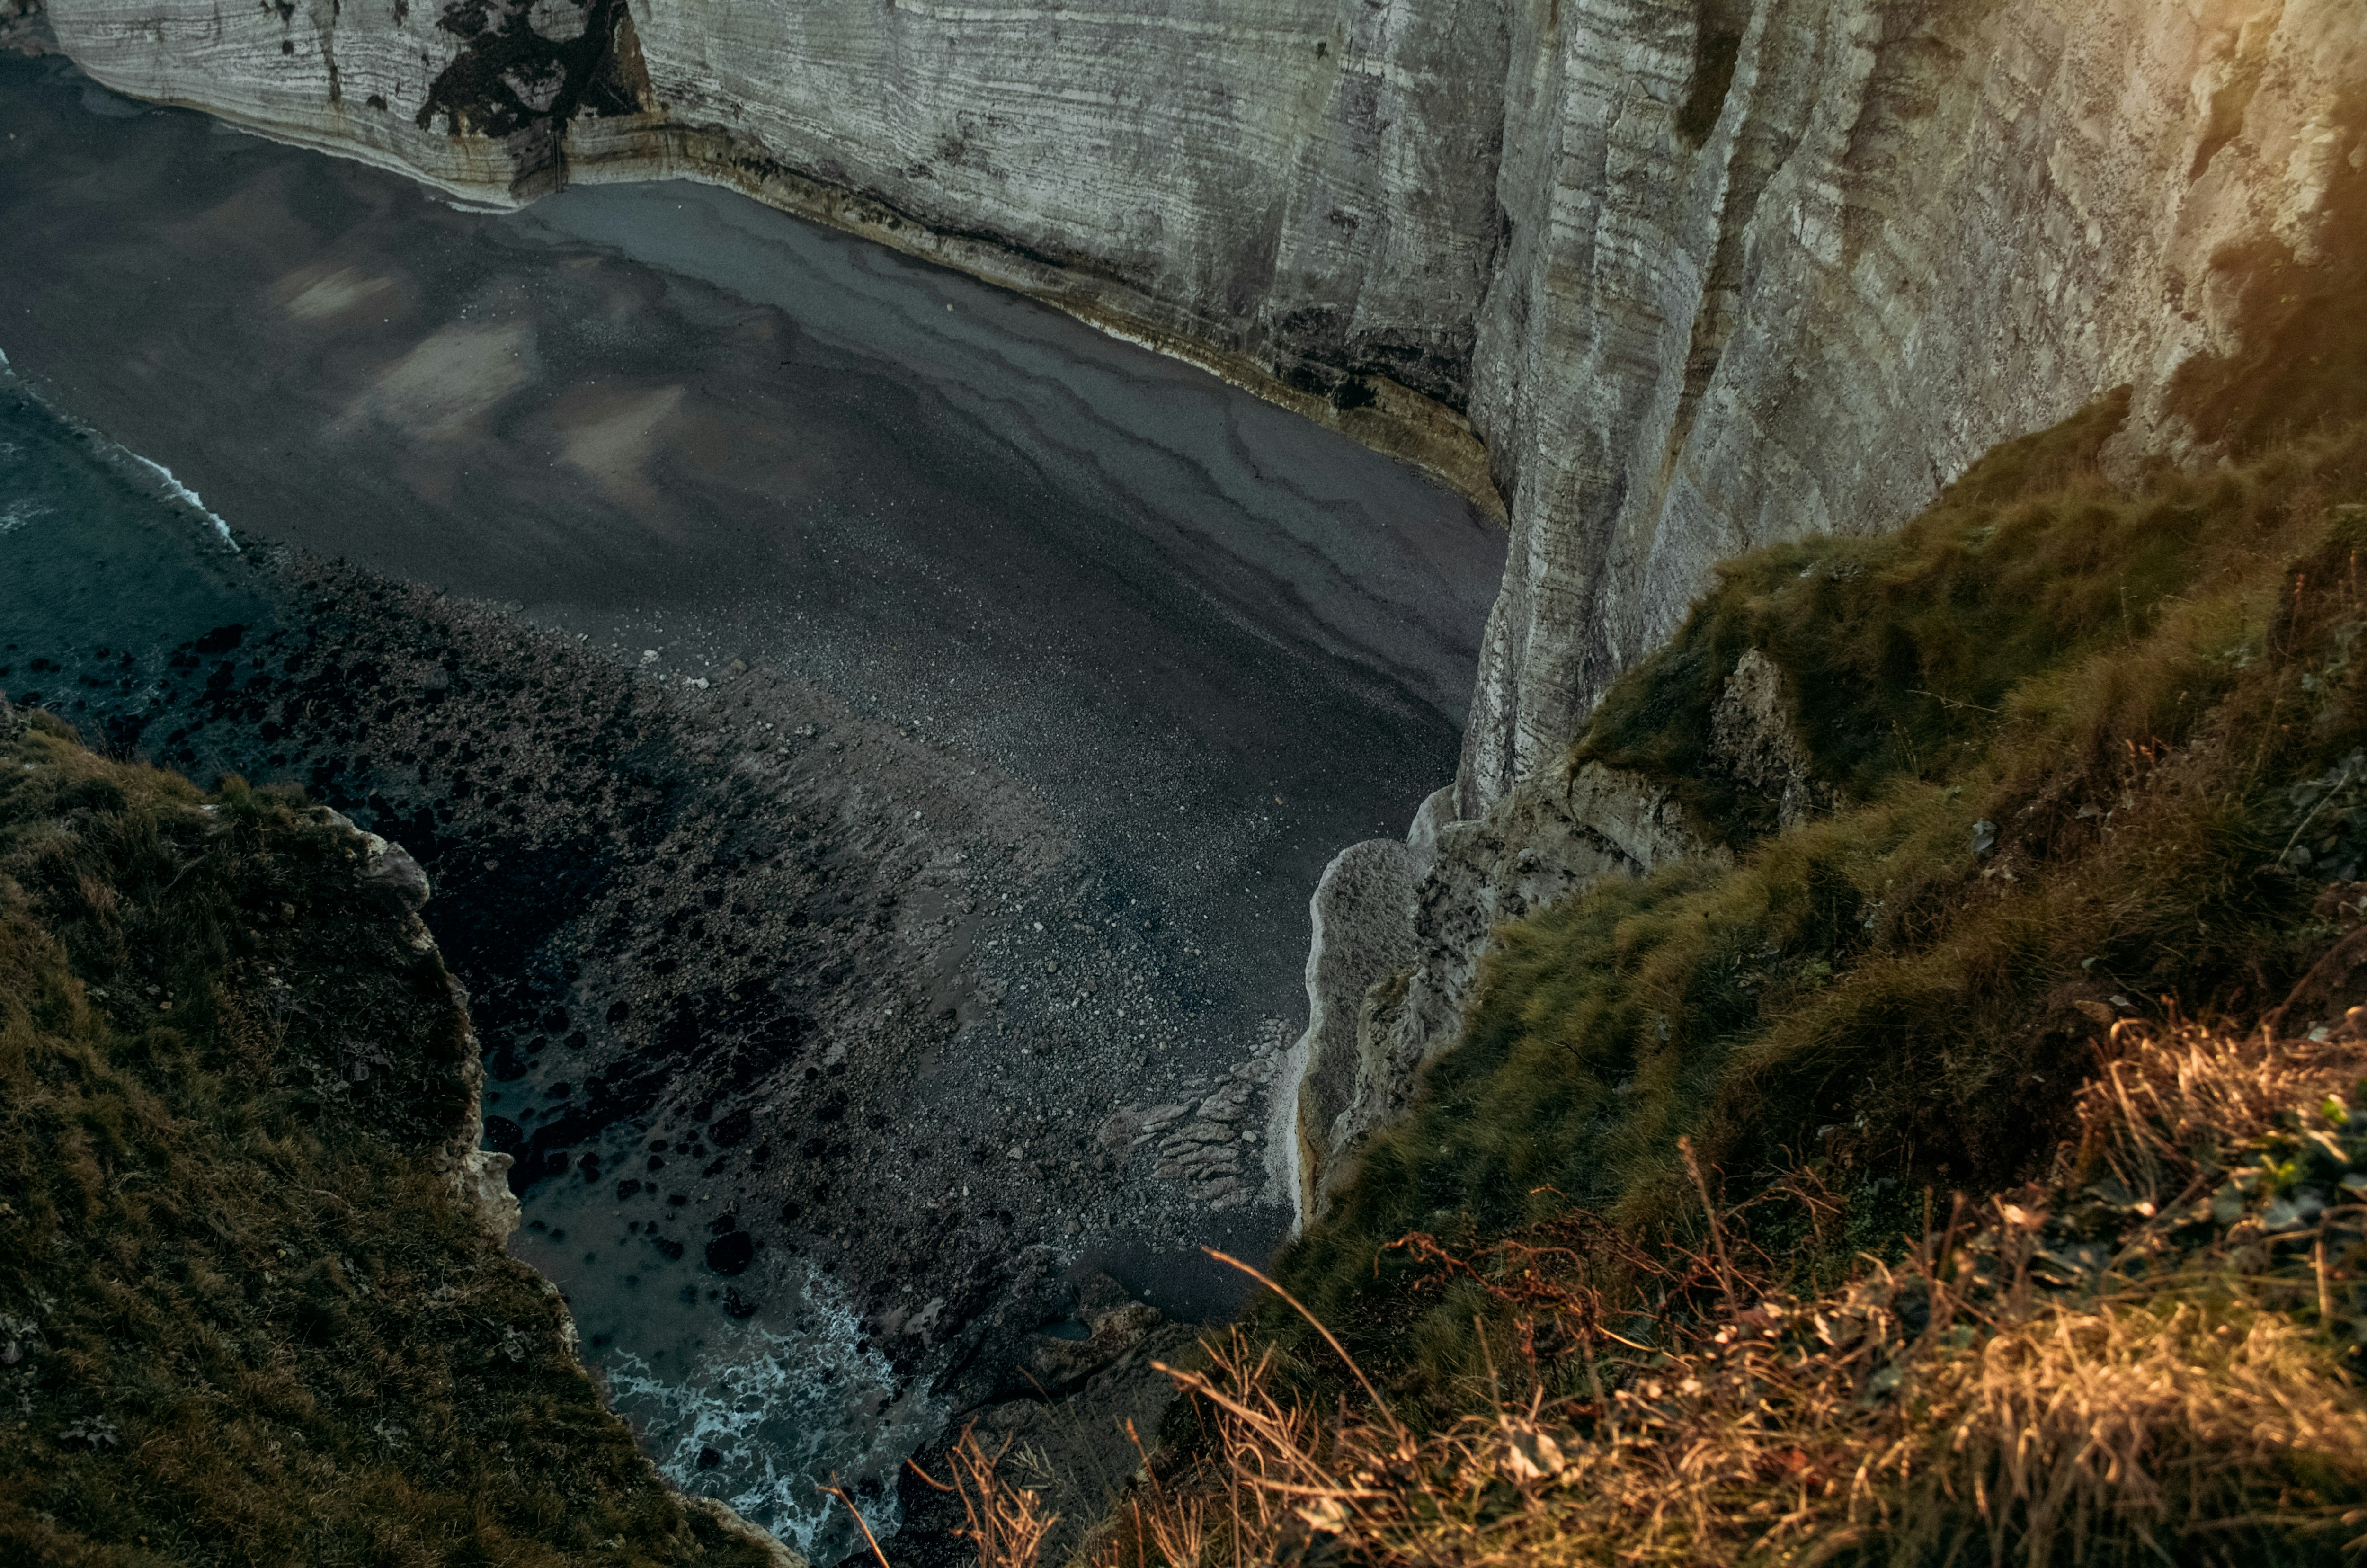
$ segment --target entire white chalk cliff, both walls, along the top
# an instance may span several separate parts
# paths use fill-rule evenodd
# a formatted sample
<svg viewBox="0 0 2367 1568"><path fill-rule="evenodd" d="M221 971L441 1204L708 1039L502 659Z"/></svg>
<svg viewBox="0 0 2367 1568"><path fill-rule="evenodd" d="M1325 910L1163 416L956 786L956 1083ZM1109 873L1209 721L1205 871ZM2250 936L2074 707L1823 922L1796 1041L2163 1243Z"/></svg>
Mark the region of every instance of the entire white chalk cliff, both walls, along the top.
<svg viewBox="0 0 2367 1568"><path fill-rule="evenodd" d="M1562 751L1711 561L1894 526L2118 384L2118 457L2187 452L2166 384L2230 343L2213 258L2305 258L2329 175L2367 159L2358 0L50 0L50 19L109 88L483 201L736 185L1494 481L1513 545L1449 812L1468 822L1522 782L1567 793ZM1382 945L1392 969L1413 950ZM1335 1030L1356 1011L1318 1007Z"/></svg>

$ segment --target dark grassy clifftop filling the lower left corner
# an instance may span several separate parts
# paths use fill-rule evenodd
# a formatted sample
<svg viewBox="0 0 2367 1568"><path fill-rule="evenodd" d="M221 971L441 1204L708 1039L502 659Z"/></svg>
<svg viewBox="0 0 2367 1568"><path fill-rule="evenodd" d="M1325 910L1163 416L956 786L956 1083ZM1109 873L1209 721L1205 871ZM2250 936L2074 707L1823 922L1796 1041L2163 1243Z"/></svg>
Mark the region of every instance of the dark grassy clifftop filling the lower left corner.
<svg viewBox="0 0 2367 1568"><path fill-rule="evenodd" d="M438 1175L473 1042L353 855L0 708L0 1561L757 1561Z"/></svg>

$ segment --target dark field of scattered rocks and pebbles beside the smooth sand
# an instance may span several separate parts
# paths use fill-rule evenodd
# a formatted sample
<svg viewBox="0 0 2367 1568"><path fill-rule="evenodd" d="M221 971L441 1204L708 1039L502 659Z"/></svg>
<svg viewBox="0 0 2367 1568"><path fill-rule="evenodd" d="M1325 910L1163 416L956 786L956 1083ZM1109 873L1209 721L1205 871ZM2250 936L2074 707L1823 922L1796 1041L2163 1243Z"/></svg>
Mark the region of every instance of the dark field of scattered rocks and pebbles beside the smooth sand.
<svg viewBox="0 0 2367 1568"><path fill-rule="evenodd" d="M1210 1030L1200 938L1027 786L762 668L663 670L346 566L258 580L253 623L161 661L7 647L0 687L417 857L528 1255L566 1241L542 1194L625 1220L623 1253L554 1272L570 1296L630 1270L750 1317L750 1262L805 1258L959 1419L1041 1397L1079 1258L1188 1255L1281 1199L1292 1028Z"/></svg>

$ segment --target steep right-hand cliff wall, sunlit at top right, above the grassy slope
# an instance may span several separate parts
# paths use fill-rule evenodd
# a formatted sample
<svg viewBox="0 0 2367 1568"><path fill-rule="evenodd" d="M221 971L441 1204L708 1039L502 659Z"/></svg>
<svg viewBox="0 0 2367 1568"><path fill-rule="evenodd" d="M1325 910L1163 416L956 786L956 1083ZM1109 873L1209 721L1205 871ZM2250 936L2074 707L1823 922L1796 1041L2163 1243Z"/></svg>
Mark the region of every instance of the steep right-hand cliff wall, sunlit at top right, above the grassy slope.
<svg viewBox="0 0 2367 1568"><path fill-rule="evenodd" d="M2213 258L2320 244L2339 0L1522 7L1472 417L1513 559L1463 810L1560 756L1723 554L1913 514L2232 334Z"/></svg>

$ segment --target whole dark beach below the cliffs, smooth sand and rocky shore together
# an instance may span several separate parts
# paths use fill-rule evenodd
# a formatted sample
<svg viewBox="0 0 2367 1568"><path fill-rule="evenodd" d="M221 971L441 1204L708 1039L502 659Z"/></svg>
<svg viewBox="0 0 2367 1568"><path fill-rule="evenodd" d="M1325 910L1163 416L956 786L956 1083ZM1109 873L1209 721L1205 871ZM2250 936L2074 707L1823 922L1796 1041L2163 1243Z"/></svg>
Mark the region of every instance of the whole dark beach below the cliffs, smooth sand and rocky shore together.
<svg viewBox="0 0 2367 1568"><path fill-rule="evenodd" d="M424 848L521 1253L594 1362L828 1341L890 1409L881 1473L1008 1397L1077 1260L1186 1317L1236 1298L1193 1246L1278 1239L1259 1144L1162 1175L1143 1120L1262 1123L1321 865L1453 772L1494 526L722 192L459 213L57 62L0 64L0 351L251 557L362 568L249 564L253 642L180 687L52 685ZM753 1262L701 1272L731 1234ZM679 1312L637 1305L660 1284ZM667 1397L653 1450L698 1483L736 1395ZM712 1478L795 1447L731 1433Z"/></svg>

